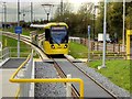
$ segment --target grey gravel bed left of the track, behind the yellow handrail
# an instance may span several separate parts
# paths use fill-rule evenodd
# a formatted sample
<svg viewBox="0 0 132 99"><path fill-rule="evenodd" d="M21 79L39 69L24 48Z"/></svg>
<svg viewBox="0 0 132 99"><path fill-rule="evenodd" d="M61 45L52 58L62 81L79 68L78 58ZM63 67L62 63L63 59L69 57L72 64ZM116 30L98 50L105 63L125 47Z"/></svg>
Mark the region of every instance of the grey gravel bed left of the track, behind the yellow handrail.
<svg viewBox="0 0 132 99"><path fill-rule="evenodd" d="M58 78L57 72L52 63L35 63L35 78ZM66 97L64 84L35 84L35 98L37 97Z"/></svg>

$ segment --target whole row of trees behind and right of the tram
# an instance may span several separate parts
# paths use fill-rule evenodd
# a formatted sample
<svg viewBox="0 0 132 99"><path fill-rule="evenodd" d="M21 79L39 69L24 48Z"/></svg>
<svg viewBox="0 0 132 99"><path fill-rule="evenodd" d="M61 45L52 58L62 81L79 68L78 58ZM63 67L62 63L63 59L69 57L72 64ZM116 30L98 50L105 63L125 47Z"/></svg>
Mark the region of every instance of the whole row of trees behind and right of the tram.
<svg viewBox="0 0 132 99"><path fill-rule="evenodd" d="M100 2L98 14L95 16L94 3L84 3L77 12L72 10L70 3L64 3L63 12L56 10L53 21L66 22L72 36L87 37L87 26L91 26L91 37L103 32L103 2ZM107 33L111 38L122 38L123 28L123 2L108 2L107 6ZM125 30L132 29L132 1L125 3Z"/></svg>

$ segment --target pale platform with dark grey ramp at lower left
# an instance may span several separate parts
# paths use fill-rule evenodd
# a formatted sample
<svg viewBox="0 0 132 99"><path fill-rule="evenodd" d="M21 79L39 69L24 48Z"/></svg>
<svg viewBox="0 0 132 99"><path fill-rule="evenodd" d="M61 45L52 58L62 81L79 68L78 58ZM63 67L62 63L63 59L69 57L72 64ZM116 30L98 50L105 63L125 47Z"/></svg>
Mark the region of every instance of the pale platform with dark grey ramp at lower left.
<svg viewBox="0 0 132 99"><path fill-rule="evenodd" d="M25 58L10 58L0 67L0 88L2 97L15 97L19 85L9 81L11 75L25 61Z"/></svg>

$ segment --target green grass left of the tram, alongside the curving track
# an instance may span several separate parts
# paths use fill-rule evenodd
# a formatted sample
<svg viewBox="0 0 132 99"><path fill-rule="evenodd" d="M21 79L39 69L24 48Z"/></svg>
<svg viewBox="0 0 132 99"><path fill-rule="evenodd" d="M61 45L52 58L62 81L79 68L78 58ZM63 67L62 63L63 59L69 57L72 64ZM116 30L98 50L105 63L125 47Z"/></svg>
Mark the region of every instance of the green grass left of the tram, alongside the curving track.
<svg viewBox="0 0 132 99"><path fill-rule="evenodd" d="M30 36L30 32L34 31L34 30L36 30L36 29L23 28L22 29L22 35L29 35ZM14 28L6 29L4 31L14 33ZM44 32L43 29L41 29L41 30L38 29L36 31L37 31L37 33L43 33ZM7 41L7 44L6 44L6 41ZM13 47L13 48L11 48L11 52L12 52L11 56L13 56L13 57L16 56L16 52L18 52L16 51L16 46L18 46L16 40L10 38L10 37L7 37L7 36L2 36L2 45L3 45L3 48L7 47L7 46L8 47ZM20 56L21 57L26 57L28 54L31 53L31 47L29 45L26 45L25 43L20 42L20 47L21 47L21 50L20 50ZM38 57L38 56L36 55L35 57Z"/></svg>

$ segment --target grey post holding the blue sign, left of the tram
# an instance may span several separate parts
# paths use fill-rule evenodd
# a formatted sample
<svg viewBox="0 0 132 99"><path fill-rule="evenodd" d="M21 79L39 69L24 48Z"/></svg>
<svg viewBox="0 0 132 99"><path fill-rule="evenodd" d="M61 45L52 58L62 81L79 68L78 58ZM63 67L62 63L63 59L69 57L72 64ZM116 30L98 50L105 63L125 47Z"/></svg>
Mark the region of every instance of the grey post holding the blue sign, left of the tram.
<svg viewBox="0 0 132 99"><path fill-rule="evenodd" d="M18 0L18 26L20 26L20 0ZM20 33L18 34L18 57L20 57Z"/></svg>

